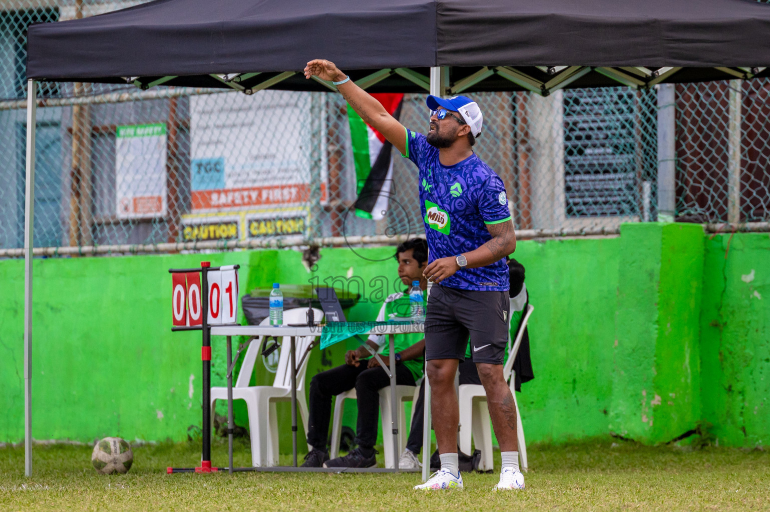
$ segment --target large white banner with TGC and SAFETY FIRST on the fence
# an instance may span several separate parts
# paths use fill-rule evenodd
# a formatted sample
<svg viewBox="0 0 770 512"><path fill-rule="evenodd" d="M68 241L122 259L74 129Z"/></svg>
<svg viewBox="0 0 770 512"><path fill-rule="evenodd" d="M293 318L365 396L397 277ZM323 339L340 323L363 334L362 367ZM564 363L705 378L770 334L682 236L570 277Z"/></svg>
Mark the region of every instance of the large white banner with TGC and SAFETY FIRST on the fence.
<svg viewBox="0 0 770 512"><path fill-rule="evenodd" d="M325 126L325 109L319 115ZM192 211L276 208L310 201L310 148L319 143L320 191L326 201L326 134L321 131L316 134L321 140L313 141L312 125L306 93L192 96Z"/></svg>

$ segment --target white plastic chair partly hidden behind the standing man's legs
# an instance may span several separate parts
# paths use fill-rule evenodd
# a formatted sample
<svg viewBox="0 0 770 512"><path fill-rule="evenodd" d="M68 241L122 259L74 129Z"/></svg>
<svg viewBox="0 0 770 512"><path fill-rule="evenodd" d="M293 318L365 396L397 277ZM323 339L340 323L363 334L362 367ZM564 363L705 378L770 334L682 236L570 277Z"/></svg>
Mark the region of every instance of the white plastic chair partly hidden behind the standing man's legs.
<svg viewBox="0 0 770 512"><path fill-rule="evenodd" d="M524 313L524 320L521 321L521 327L516 333L516 339L508 344L508 358L503 364L503 377L511 387L511 394L514 395L514 407L516 408L516 429L519 441L519 467L522 471L527 470L527 443L524 440L524 427L521 424L521 414L519 414L519 405L516 401L516 383L513 371L514 360L521 345L521 338L524 336L524 328L527 327L530 315L534 306L527 305L527 311ZM470 441L473 439L477 450L481 450L481 460L479 469L483 471L493 470L492 460L492 430L490 425L489 409L487 408L487 394L484 386L480 384L462 384L457 391L457 400L460 404L460 450L465 454L470 454Z"/></svg>

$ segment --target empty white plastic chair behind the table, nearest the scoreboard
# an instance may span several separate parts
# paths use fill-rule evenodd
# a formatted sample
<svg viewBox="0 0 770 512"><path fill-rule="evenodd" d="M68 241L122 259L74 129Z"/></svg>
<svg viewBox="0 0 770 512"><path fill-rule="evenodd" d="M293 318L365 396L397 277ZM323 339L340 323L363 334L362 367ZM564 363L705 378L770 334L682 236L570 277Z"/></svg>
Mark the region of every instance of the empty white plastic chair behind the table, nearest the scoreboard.
<svg viewBox="0 0 770 512"><path fill-rule="evenodd" d="M283 311L283 324L299 324L306 321L307 308L295 308ZM313 308L313 317L323 319L323 311ZM320 321L320 320L316 320ZM268 325L269 318L259 322L259 325ZM272 386L249 386L251 374L254 370L254 363L260 355L260 347L263 337L256 337L246 349L246 356L243 358L238 373L236 384L233 386L233 400L246 401L246 408L249 411L249 432L251 434L251 461L253 466L276 466L278 464L278 416L276 414L276 403L280 401L291 401L291 354L290 339L283 337L281 346L278 349L280 356L276 377ZM307 361L310 354L303 357L310 344L313 343L313 336L296 337L295 350L296 362L300 367L296 371L296 403L297 410L300 413L302 424L307 432L307 401L305 398L305 373L307 370ZM227 400L227 387L211 388L211 417L214 417L214 404L217 400Z"/></svg>

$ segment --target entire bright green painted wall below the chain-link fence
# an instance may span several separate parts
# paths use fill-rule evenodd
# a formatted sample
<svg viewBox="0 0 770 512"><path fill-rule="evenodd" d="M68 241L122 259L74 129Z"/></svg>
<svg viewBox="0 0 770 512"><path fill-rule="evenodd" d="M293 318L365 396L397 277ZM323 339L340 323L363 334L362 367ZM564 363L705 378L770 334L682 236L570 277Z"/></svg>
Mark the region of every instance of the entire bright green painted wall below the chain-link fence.
<svg viewBox="0 0 770 512"><path fill-rule="evenodd" d="M242 293L273 281L350 286L363 300L348 316L365 320L397 288L392 254L323 249L312 271L288 250L35 260L33 436L180 441L199 433L200 338L169 330L169 268L240 264ZM536 308L537 377L519 394L527 442L614 432L654 444L708 423L720 444L767 444L768 255L767 234L711 236L692 224L520 242L515 256ZM0 282L0 441L19 441L22 261L0 261ZM214 385L224 384L223 344L214 341ZM308 375L341 364L346 348L314 351ZM258 361L253 382L272 379ZM287 449L288 404L279 407ZM236 408L237 423L246 424L244 413ZM355 424L353 404L346 424Z"/></svg>

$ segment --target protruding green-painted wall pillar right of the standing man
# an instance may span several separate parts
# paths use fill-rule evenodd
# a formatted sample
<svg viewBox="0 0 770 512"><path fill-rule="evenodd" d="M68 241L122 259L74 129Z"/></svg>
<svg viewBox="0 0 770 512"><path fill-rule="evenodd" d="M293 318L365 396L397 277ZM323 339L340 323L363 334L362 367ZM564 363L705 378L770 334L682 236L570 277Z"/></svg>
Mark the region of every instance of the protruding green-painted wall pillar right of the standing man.
<svg viewBox="0 0 770 512"><path fill-rule="evenodd" d="M624 224L610 430L655 444L700 418L699 224Z"/></svg>

